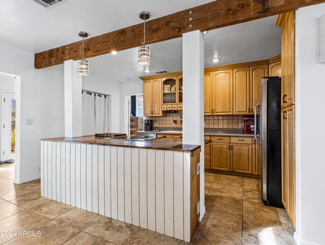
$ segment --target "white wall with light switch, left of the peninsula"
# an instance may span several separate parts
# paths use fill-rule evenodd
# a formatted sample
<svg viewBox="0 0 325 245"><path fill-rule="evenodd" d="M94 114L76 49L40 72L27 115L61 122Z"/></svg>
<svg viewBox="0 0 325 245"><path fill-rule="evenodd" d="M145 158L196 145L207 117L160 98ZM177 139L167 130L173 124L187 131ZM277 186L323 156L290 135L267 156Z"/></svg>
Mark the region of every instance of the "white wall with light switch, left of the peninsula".
<svg viewBox="0 0 325 245"><path fill-rule="evenodd" d="M64 136L63 65L31 70L21 76L21 176L40 178L41 139ZM26 126L26 118L33 119Z"/></svg>

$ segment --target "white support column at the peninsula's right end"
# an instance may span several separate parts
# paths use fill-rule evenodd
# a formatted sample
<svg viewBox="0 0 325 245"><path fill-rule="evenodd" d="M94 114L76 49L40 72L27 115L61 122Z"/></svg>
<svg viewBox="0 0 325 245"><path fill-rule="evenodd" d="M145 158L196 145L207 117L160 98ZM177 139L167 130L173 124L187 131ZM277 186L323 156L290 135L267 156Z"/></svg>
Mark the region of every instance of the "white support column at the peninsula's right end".
<svg viewBox="0 0 325 245"><path fill-rule="evenodd" d="M204 205L204 35L183 34L183 144L201 145L200 221Z"/></svg>

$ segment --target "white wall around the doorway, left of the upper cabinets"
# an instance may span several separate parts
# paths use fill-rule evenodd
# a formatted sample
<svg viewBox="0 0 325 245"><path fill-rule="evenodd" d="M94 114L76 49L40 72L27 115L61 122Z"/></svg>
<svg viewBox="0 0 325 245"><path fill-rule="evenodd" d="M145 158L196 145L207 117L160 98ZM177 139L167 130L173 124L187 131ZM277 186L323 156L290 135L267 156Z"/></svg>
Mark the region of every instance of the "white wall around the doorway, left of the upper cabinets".
<svg viewBox="0 0 325 245"><path fill-rule="evenodd" d="M143 94L143 82L139 79L139 81L135 82L123 82L121 83L121 114L120 114L120 122L121 122L121 133L127 133L127 96L129 95L139 95Z"/></svg>

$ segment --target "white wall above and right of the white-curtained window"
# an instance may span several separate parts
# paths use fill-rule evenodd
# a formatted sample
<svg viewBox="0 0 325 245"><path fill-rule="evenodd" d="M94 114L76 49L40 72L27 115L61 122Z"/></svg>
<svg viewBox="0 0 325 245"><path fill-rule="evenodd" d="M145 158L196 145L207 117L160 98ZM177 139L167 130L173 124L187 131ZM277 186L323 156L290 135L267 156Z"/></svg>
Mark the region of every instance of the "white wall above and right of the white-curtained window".
<svg viewBox="0 0 325 245"><path fill-rule="evenodd" d="M120 124L121 84L119 82L112 81L108 78L90 73L88 76L82 77L82 89L92 91L92 92L103 93L111 96L110 131L112 133L122 132L122 127Z"/></svg>

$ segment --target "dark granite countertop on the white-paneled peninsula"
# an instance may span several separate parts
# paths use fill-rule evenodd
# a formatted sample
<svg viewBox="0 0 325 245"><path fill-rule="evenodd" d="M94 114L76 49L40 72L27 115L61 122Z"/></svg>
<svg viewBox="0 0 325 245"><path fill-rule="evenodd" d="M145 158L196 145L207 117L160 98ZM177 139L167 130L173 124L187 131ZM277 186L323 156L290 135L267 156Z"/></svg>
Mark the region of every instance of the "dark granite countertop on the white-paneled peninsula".
<svg viewBox="0 0 325 245"><path fill-rule="evenodd" d="M83 137L58 137L58 138L50 138L50 139L42 139L42 140L159 149L159 150L175 150L175 151L190 151L190 152L201 151L200 145L183 145L182 139L170 139L170 138L157 138L157 139L152 139L147 141L129 141L123 139L104 139L102 137L95 137L94 135L89 135L89 136L87 135Z"/></svg>

